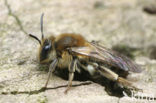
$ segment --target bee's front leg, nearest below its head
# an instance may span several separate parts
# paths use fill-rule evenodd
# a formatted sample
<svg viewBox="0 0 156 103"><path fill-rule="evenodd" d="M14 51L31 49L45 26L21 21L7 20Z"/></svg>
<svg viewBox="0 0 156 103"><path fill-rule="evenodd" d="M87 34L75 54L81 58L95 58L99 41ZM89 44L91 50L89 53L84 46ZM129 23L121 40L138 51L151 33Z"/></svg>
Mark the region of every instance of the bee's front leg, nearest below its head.
<svg viewBox="0 0 156 103"><path fill-rule="evenodd" d="M49 78L52 75L51 73L53 73L55 71L55 68L56 68L57 63L58 63L58 60L57 59L54 59L53 62L50 64L50 66L49 66L49 72L48 72L48 79L46 81L46 84L45 84L44 88L47 87Z"/></svg>

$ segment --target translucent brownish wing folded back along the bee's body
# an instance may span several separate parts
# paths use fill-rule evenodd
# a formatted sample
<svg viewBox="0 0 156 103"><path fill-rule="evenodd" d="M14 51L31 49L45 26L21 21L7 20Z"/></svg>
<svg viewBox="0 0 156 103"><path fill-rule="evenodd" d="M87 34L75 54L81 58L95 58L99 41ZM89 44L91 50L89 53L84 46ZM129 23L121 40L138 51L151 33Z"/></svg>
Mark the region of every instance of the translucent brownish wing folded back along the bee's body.
<svg viewBox="0 0 156 103"><path fill-rule="evenodd" d="M82 56L87 56L97 62L103 62L107 65L114 66L124 71L141 72L141 68L128 57L121 55L112 50L97 44L90 43L90 47L73 47L70 48L71 52L77 53Z"/></svg>

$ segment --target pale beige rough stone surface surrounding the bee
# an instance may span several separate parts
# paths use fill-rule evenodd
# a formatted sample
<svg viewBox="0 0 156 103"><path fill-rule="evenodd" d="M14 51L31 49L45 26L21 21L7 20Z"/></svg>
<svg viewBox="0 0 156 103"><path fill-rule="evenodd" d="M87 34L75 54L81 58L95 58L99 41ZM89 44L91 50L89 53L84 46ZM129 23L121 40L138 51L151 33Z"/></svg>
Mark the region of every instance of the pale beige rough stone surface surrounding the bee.
<svg viewBox="0 0 156 103"><path fill-rule="evenodd" d="M148 1L148 2L147 2ZM156 15L143 11L153 0L1 0L0 1L0 102L1 103L142 103L130 97L109 96L104 86L90 81L73 81L64 94L67 80L51 78L37 62L40 16L44 12L46 36L79 33L105 47L118 45L131 53L143 68L130 78L148 96L156 96ZM124 46L123 46L124 45ZM123 48L124 47L124 48ZM128 49L127 49L128 48ZM125 51L125 52L124 52ZM125 54L126 54L125 53ZM84 84L86 83L86 85ZM62 86L63 85L63 86ZM18 91L18 93L16 93ZM31 93L31 95L30 95ZM146 101L149 102L149 101ZM153 101L153 103L156 101Z"/></svg>

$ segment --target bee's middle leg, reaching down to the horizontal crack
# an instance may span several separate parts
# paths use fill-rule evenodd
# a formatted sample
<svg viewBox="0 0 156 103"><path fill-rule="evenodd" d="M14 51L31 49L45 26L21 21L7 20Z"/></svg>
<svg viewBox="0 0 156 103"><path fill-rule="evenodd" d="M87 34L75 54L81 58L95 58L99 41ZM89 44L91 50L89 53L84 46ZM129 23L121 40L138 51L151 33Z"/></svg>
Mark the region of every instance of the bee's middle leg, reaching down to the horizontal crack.
<svg viewBox="0 0 156 103"><path fill-rule="evenodd" d="M68 90L70 89L70 87L72 86L72 80L74 78L74 72L75 72L75 69L76 69L76 65L77 65L77 60L76 59L72 60L72 62L69 65L69 68L68 68L69 69L69 80L68 80L68 87L65 90L65 93L67 93Z"/></svg>

